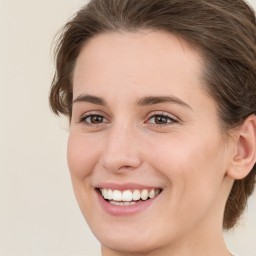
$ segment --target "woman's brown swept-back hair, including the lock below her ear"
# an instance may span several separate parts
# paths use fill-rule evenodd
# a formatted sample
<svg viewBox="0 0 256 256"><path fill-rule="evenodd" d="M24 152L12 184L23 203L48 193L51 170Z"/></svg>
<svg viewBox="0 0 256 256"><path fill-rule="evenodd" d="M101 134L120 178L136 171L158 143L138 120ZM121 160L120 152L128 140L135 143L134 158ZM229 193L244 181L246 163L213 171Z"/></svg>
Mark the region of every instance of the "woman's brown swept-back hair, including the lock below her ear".
<svg viewBox="0 0 256 256"><path fill-rule="evenodd" d="M244 0L91 0L57 33L52 111L72 111L72 74L82 45L110 31L164 29L196 45L204 56L203 84L217 103L223 134L256 113L256 23ZM235 180L223 228L234 226L255 183L256 167Z"/></svg>

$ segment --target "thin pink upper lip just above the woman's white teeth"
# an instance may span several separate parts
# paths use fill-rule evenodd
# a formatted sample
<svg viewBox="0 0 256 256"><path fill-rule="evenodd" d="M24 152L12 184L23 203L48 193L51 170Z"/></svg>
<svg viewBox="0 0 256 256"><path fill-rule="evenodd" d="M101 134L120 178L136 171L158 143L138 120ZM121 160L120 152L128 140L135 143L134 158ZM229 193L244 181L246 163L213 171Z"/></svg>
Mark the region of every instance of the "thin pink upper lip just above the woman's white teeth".
<svg viewBox="0 0 256 256"><path fill-rule="evenodd" d="M95 188L109 188L116 190L128 190L128 189L153 189L160 188L158 186L149 186L138 183L112 183L112 182L101 182L95 185Z"/></svg>

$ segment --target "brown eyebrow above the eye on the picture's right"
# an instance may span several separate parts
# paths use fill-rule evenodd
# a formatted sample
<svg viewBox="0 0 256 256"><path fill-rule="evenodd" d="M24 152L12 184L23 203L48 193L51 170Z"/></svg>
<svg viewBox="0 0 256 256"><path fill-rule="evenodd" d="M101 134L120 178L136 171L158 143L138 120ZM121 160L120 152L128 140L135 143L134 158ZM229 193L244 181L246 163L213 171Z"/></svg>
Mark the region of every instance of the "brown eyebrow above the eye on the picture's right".
<svg viewBox="0 0 256 256"><path fill-rule="evenodd" d="M189 106L186 102L174 96L147 96L147 97L140 98L136 102L137 105L142 105L142 106L153 105L158 103L175 103L175 104L179 104L192 109L192 107Z"/></svg>

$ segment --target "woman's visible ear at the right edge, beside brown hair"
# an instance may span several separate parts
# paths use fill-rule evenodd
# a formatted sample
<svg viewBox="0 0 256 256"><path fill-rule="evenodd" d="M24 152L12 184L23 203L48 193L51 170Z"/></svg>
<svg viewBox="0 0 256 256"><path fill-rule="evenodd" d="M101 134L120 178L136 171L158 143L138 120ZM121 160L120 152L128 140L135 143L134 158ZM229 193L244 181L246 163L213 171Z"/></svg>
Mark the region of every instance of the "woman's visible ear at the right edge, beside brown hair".
<svg viewBox="0 0 256 256"><path fill-rule="evenodd" d="M249 115L240 127L236 140L235 155L227 175L234 179L247 176L256 161L256 116Z"/></svg>

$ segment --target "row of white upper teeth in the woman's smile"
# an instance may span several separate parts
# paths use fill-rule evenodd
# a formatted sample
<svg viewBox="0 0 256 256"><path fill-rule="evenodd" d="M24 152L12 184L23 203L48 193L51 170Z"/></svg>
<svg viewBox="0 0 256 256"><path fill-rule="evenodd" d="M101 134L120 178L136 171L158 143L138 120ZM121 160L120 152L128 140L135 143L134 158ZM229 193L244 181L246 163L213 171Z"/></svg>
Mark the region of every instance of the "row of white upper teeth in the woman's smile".
<svg viewBox="0 0 256 256"><path fill-rule="evenodd" d="M131 190L112 190L109 188L100 188L101 194L105 199L108 200L114 200L114 201L131 201L131 200L139 200L140 198L142 200L146 200L148 197L152 198L155 195L159 194L160 189L159 188L153 188L153 189L143 189L139 191L138 189Z"/></svg>

